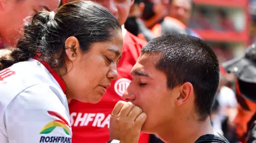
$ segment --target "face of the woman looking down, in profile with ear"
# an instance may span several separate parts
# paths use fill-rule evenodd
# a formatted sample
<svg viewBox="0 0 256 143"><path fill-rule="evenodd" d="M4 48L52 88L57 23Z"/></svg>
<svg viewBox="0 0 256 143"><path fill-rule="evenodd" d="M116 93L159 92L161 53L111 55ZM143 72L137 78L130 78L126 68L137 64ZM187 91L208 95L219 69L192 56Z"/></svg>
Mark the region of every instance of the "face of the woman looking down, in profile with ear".
<svg viewBox="0 0 256 143"><path fill-rule="evenodd" d="M70 41L71 42L68 42ZM66 49L69 60L66 61L67 74L63 76L66 84L67 99L97 103L110 81L118 77L117 64L122 56L123 36L117 31L108 42L95 42L87 53L82 53L79 43L66 41L67 45L76 45L76 55L72 49Z"/></svg>

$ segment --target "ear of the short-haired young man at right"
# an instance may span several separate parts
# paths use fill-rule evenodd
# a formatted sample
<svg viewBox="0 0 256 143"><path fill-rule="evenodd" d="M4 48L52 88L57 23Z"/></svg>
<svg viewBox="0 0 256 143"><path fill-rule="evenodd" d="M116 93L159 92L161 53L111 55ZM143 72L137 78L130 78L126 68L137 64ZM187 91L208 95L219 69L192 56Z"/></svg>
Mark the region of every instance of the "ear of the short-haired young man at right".
<svg viewBox="0 0 256 143"><path fill-rule="evenodd" d="M177 98L176 101L177 106L181 106L188 101L189 97L193 95L194 88L190 82L185 82L179 87L179 90L180 96Z"/></svg>

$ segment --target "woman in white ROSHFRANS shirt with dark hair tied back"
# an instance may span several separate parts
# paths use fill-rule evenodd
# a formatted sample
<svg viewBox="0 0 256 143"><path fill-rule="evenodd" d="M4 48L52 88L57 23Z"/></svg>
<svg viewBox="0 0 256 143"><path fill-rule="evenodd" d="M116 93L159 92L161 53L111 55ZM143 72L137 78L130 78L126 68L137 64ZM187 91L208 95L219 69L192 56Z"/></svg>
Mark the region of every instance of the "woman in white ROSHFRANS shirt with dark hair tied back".
<svg viewBox="0 0 256 143"><path fill-rule="evenodd" d="M37 12L24 29L16 48L0 57L0 142L71 142L67 99L97 103L106 93L118 76L121 26L106 8L75 1ZM122 119L141 118L130 111ZM139 135L127 135L133 125L111 137L129 142Z"/></svg>

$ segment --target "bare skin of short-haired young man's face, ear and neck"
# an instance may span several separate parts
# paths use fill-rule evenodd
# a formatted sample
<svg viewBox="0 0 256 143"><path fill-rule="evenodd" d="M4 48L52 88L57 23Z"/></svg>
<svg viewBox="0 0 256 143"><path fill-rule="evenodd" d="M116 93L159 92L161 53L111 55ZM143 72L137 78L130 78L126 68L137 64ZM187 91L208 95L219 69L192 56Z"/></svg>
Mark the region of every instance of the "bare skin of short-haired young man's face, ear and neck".
<svg viewBox="0 0 256 143"><path fill-rule="evenodd" d="M194 142L202 135L217 134L210 118L198 121L193 85L185 82L168 89L165 73L155 68L158 60L158 54L142 54L131 71L133 80L123 94L126 101L147 114L142 132L156 134L165 142Z"/></svg>

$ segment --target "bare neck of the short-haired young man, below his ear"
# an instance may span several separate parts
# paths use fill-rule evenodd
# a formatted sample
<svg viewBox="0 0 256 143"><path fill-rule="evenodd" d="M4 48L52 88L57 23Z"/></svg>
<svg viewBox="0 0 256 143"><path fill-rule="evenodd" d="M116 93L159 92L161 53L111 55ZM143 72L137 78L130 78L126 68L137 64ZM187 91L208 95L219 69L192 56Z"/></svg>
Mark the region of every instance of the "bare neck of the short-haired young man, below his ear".
<svg viewBox="0 0 256 143"><path fill-rule="evenodd" d="M159 127L158 131L157 136L166 143L193 143L203 135L217 134L211 125L210 118L207 118L203 122L179 120L174 125Z"/></svg>

